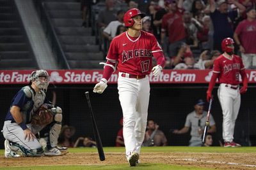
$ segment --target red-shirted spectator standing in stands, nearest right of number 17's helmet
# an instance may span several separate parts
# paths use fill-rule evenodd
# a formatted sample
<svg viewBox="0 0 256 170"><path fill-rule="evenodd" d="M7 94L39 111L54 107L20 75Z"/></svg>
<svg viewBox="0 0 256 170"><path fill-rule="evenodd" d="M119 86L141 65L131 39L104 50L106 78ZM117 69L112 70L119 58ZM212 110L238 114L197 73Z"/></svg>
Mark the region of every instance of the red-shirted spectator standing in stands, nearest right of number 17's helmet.
<svg viewBox="0 0 256 170"><path fill-rule="evenodd" d="M179 0L178 4L174 0L165 0L164 3L168 6L168 13L163 16L161 30L161 44L165 46L166 33L168 34L168 56L177 55L178 48L186 41L186 31L182 20L183 0Z"/></svg>

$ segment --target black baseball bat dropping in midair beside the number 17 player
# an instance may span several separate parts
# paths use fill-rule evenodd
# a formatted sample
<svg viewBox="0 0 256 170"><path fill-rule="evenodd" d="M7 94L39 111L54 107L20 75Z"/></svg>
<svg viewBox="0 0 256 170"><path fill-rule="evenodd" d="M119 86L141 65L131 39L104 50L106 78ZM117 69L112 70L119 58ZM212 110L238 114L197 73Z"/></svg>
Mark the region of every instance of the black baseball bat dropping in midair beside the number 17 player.
<svg viewBox="0 0 256 170"><path fill-rule="evenodd" d="M94 118L94 115L93 115L92 104L91 104L91 101L90 101L89 92L85 92L85 96L86 96L86 99L87 99L87 103L88 103L89 110L90 110L90 115L91 115L91 118L92 118L93 134L94 134L95 141L97 143L97 149L98 149L99 157L100 157L100 160L103 161L103 160L105 160L105 154L104 154L104 151L103 151L103 148L102 148L100 133L99 133L99 130L98 130L98 127L97 127L97 124L95 122L95 118Z"/></svg>

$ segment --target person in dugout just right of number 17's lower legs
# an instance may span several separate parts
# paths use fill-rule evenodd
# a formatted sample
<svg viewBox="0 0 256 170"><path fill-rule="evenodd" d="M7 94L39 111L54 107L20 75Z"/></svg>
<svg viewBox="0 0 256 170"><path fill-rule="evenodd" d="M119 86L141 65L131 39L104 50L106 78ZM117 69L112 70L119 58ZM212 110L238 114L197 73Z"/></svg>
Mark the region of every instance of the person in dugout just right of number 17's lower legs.
<svg viewBox="0 0 256 170"><path fill-rule="evenodd" d="M159 130L159 125L150 119L147 122L147 131L143 141L143 146L167 146L167 139L162 131Z"/></svg>

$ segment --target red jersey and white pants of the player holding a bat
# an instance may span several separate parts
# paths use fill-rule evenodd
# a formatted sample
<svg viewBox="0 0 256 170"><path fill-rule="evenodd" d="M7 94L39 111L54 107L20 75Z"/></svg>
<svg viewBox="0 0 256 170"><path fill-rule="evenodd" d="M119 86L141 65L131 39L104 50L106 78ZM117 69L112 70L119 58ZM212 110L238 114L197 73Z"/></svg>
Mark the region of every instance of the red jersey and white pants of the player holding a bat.
<svg viewBox="0 0 256 170"><path fill-rule="evenodd" d="M222 54L214 60L213 72L219 74L218 98L223 114L222 133L225 142L232 142L234 139L234 128L241 104L239 76L243 69L243 61L237 55L232 55L230 59Z"/></svg>

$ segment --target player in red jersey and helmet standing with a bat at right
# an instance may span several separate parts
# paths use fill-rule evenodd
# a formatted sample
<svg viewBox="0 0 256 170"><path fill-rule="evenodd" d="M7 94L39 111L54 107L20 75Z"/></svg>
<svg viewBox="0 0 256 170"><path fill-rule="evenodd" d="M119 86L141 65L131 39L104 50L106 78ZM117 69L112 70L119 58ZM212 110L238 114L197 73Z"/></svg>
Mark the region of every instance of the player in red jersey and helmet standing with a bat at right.
<svg viewBox="0 0 256 170"><path fill-rule="evenodd" d="M234 55L234 40L225 38L221 43L223 54L214 60L213 74L207 90L207 101L211 99L212 89L216 79L220 83L218 98L223 114L224 147L241 146L233 141L236 118L241 103L240 94L244 94L248 87L248 78L242 59ZM242 77L243 87L239 90L239 75Z"/></svg>

